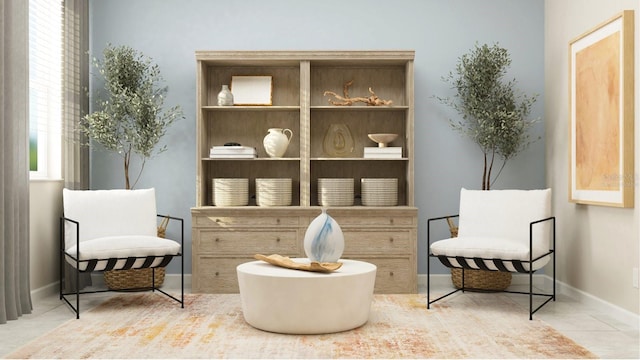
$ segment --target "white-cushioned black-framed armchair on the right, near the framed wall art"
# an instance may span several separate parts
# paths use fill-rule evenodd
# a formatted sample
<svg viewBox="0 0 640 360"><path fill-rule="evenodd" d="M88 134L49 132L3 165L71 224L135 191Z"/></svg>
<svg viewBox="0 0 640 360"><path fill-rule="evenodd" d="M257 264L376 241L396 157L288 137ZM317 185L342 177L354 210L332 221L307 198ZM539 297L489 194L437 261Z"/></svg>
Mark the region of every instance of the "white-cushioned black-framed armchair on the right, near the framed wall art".
<svg viewBox="0 0 640 360"><path fill-rule="evenodd" d="M529 295L529 319L549 301L555 301L555 217L551 216L551 189L544 190L467 190L460 192L457 215L428 219L427 241L429 257L436 257L450 268L462 269L462 287L432 303L458 291L474 290L465 287L464 270L480 269L529 274L529 291L508 291ZM458 219L458 237L431 242L431 224L451 217ZM533 273L549 261L553 266L553 292L535 293ZM427 262L427 273L431 267ZM546 301L533 309L533 296Z"/></svg>

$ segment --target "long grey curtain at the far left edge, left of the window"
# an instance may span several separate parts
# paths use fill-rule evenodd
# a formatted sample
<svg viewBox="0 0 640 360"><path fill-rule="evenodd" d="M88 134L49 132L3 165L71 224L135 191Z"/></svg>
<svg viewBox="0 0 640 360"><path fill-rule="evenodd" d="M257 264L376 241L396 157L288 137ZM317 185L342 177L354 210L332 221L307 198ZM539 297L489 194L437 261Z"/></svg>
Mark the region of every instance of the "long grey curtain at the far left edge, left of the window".
<svg viewBox="0 0 640 360"><path fill-rule="evenodd" d="M0 323L32 310L29 283L29 2L0 2Z"/></svg>

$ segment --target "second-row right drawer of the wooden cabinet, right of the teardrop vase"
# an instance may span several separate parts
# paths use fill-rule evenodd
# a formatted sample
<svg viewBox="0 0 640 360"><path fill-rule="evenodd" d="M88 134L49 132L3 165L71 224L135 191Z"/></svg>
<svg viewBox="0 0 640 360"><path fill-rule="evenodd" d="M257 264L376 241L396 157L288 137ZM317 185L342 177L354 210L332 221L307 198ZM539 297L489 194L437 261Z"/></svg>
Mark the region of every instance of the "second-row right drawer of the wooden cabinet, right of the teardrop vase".
<svg viewBox="0 0 640 360"><path fill-rule="evenodd" d="M344 254L411 254L411 231L349 231L344 234Z"/></svg>

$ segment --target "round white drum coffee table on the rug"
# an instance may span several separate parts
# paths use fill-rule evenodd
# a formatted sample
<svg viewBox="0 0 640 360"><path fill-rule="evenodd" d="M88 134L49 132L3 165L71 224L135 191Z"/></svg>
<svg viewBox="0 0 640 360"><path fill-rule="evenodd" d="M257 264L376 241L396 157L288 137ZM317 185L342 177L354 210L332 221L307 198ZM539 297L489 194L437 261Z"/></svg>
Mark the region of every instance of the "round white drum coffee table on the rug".
<svg viewBox="0 0 640 360"><path fill-rule="evenodd" d="M342 267L331 273L287 269L264 261L238 265L244 319L255 328L286 334L327 334L365 324L376 266L356 260L340 262Z"/></svg>

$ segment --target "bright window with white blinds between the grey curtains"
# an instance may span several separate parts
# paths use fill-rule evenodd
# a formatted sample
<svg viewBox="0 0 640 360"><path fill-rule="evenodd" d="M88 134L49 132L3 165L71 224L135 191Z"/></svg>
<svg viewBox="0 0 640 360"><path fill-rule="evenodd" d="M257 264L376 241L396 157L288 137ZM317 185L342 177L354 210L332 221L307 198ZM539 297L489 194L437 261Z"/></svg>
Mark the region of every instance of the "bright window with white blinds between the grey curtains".
<svg viewBox="0 0 640 360"><path fill-rule="evenodd" d="M29 0L29 164L61 177L62 0Z"/></svg>

